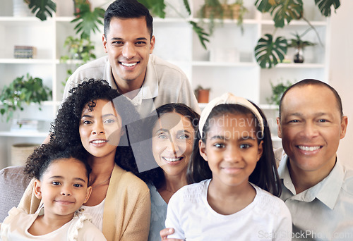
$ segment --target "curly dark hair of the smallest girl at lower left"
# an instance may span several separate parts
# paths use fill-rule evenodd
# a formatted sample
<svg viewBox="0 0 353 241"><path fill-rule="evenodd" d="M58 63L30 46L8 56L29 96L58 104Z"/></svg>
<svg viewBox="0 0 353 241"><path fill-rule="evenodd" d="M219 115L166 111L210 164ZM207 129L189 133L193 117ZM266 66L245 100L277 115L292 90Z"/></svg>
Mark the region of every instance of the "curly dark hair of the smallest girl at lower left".
<svg viewBox="0 0 353 241"><path fill-rule="evenodd" d="M49 142L48 144L42 144L40 147L37 147L35 151L28 156L24 173L28 174L29 178L41 180L43 173L47 171L47 168L49 168L54 161L73 158L85 165L86 175L89 181L91 168L88 164L87 156L88 153L83 152L82 149L63 147L54 142Z"/></svg>

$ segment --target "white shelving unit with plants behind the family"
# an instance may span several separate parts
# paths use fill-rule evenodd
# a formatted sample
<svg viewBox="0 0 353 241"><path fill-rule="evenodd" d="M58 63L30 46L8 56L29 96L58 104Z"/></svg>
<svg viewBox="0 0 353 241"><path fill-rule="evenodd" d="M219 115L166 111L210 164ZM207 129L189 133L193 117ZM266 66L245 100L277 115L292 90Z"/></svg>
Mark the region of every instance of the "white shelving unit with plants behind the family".
<svg viewBox="0 0 353 241"><path fill-rule="evenodd" d="M101 6L98 1L90 0L92 6ZM207 30L208 19L200 19L196 17L190 18L172 18L167 14L167 18L154 18L153 30L156 37L155 49L153 54L164 58L165 60L179 66L188 76L193 88L201 85L205 88L210 87L210 99L220 96L224 92L232 92L236 95L251 99L256 104L266 103L266 98L270 97L270 83L277 81L291 82L301 80L302 78L317 78L328 82L328 57L330 49L330 23L329 20L321 18L317 14L312 15L310 23L317 27L318 33L325 44L325 47L307 47L304 51L306 54L305 63L280 63L272 69L261 69L254 60L253 49L258 39L265 33L273 34L273 20L269 16L265 16L256 10L254 6L255 0L244 1L249 12L244 17L242 29L239 27L238 20L215 20L215 32L210 36L210 43L206 43L208 49L205 50L201 46L197 35L193 32L188 21L196 23L206 23L203 25ZM63 4L71 4L70 7ZM52 101L44 101L42 106L46 111L51 110L51 118L54 120L55 114L61 104L62 89L61 82L67 78L66 70L69 65L80 65L80 61L71 60L61 63L59 58L66 54L67 49L63 46L64 40L68 35L74 35L75 24L71 23L74 19L70 16L72 13L72 1L56 1L57 9L61 9L53 18L46 21L40 21L38 18L32 17L11 17L0 9L0 73L1 82L0 89L4 85L8 85L17 76L30 73L34 77L40 77L52 87ZM180 3L181 7L182 2ZM197 16L196 11L200 7L201 0L189 1L191 5L191 16ZM309 4L311 11L312 6ZM308 3L304 3L308 6ZM12 0L1 0L2 9L12 8ZM70 8L70 11L68 10ZM316 8L316 6L315 6ZM63 13L62 11L66 11ZM289 26L284 29L278 29L276 35L285 35L292 37L292 32L304 32L309 26L303 20L292 20ZM106 55L102 51L102 32L97 31L93 35L92 40L95 41L95 54L97 57ZM2 37L1 37L2 36ZM306 39L311 42L317 42L316 35L313 31L306 35ZM305 39L305 40L306 40ZM19 59L11 58L13 56L13 45L30 45L37 47L38 58ZM241 62L232 62L227 58L227 48L239 51ZM210 59L210 51L224 51L225 59L222 62L205 61ZM230 51L229 51L230 52ZM288 58L291 58L288 54ZM217 58L222 59L222 58ZM229 61L227 61L229 59ZM201 109L206 104L199 104ZM277 106L269 104L260 104L261 109L266 111L266 116L275 120L277 115ZM36 107L37 111L37 107ZM42 117L44 113L33 111L32 117ZM47 118L46 116L46 119ZM1 123L6 130L8 123ZM274 123L273 123L274 124ZM10 130L10 128L7 128ZM48 130L49 131L49 130ZM0 159L8 159L3 152L8 149L11 142L22 140L25 138L47 137L45 130L42 132L10 132L0 131ZM8 138L11 137L11 138ZM280 138L273 136L274 142L280 142ZM2 144L2 147L1 147ZM7 151L6 151L7 152ZM0 163L1 165L1 163Z"/></svg>

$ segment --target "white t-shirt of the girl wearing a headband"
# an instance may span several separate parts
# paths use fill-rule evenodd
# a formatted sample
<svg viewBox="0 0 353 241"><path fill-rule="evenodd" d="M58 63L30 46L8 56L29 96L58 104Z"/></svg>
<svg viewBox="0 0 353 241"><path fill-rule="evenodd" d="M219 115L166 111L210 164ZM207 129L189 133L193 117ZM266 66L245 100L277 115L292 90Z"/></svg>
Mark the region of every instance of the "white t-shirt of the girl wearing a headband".
<svg viewBox="0 0 353 241"><path fill-rule="evenodd" d="M222 215L207 201L209 180L181 187L169 200L168 237L192 240L291 240L292 220L285 203L253 185L253 202L235 214Z"/></svg>

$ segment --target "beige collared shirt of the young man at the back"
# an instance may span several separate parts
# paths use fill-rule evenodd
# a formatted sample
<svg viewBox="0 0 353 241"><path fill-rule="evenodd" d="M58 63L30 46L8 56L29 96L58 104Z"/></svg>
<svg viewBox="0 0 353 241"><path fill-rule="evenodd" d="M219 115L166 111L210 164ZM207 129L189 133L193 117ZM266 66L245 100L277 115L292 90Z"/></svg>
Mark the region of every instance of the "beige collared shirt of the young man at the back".
<svg viewBox="0 0 353 241"><path fill-rule="evenodd" d="M80 82L94 78L107 80L116 89L108 56L80 66L66 82L63 100L70 95L68 91ZM184 103L201 113L191 84L185 73L172 63L150 54L145 81L137 96L131 99L140 116L148 116L155 108L168 103Z"/></svg>

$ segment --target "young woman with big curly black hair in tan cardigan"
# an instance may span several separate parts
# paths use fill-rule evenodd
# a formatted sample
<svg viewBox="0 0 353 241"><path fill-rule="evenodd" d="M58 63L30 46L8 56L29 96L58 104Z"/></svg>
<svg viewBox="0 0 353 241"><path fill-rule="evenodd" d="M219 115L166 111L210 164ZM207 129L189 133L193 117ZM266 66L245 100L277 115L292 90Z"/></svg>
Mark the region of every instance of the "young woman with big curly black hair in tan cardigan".
<svg viewBox="0 0 353 241"><path fill-rule="evenodd" d="M83 212L93 216L107 240L147 240L150 192L133 175L138 171L127 135L127 124L138 120L138 113L104 80L85 81L71 93L52 124L50 142L89 154L92 194ZM34 213L39 204L30 184L19 206Z"/></svg>

